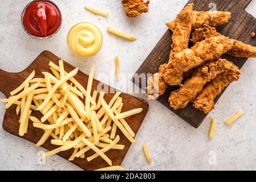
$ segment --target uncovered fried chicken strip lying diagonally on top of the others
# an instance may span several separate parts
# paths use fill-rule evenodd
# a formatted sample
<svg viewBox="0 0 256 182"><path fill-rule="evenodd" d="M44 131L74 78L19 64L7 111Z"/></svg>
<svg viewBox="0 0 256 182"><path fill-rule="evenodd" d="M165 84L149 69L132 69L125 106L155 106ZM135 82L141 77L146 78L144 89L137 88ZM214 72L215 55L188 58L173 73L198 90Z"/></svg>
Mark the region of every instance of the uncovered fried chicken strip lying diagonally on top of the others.
<svg viewBox="0 0 256 182"><path fill-rule="evenodd" d="M216 36L196 43L191 49L184 49L174 55L172 63L168 64L164 80L169 85L180 85L183 73L209 60L216 60L233 46L233 40L225 36Z"/></svg>

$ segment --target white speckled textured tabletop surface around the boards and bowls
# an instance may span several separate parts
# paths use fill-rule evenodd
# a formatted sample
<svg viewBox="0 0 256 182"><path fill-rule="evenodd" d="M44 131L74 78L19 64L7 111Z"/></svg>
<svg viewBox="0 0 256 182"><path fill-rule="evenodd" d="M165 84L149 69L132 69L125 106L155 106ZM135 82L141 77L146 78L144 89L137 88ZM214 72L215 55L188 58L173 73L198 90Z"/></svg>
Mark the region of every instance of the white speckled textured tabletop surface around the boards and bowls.
<svg viewBox="0 0 256 182"><path fill-rule="evenodd" d="M186 0L151 0L148 14L140 18L128 19L119 0L56 0L62 10L63 25L53 38L35 40L22 29L20 14L29 1L1 1L0 9L0 68L9 72L25 69L40 52L45 49L78 67L85 73L91 65L97 73L109 73L114 68L113 57L121 59L121 72L135 73L152 48L166 31L165 23L176 17ZM110 17L103 18L84 10L85 5L109 11ZM247 8L255 13L256 2ZM101 51L96 56L82 59L68 50L66 35L74 24L95 23L104 36ZM106 32L107 26L137 36L136 42L127 42ZM250 59L242 68L242 78L234 82L218 101L217 108L208 115L199 129L194 129L157 101L149 102L149 112L139 133L137 143L132 144L123 165L128 170L188 170L188 169L256 169L256 59ZM96 78L108 82L107 78ZM123 88L125 80L117 83ZM113 86L113 85L112 85ZM4 97L0 92L0 97ZM140 96L145 98L145 96ZM231 127L224 125L226 118L239 109L245 115ZM0 103L0 124L2 125L4 105ZM217 133L208 140L210 118L217 119ZM153 159L145 160L142 144L147 143ZM46 165L38 165L38 151L35 145L14 137L0 127L0 169L3 170L78 170L79 168L59 156L51 156ZM216 152L217 163L209 164L209 152Z"/></svg>

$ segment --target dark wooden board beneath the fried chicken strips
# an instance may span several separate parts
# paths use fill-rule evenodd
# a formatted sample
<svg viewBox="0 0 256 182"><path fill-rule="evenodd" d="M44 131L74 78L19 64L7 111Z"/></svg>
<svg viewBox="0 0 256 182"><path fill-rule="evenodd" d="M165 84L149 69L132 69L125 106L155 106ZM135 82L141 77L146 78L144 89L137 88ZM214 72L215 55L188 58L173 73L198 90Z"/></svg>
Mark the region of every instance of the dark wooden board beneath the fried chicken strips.
<svg viewBox="0 0 256 182"><path fill-rule="evenodd" d="M232 39L237 39L246 44L256 46L256 38L251 37L251 32L256 32L256 19L245 11L245 8L247 7L247 5L249 5L251 0L191 0L188 3L192 2L194 3L194 10L197 11L209 11L211 8L210 3L216 3L218 11L230 11L231 19L229 23L218 27L218 32ZM162 24L160 26L165 26L165 24ZM161 64L168 63L170 45L172 44L171 38L172 31L168 29L136 73L144 73L145 75L147 75L148 73L156 73ZM247 61L246 58L235 58L226 55L223 57L227 60L233 61L233 63L239 68L242 68L243 64L245 64L245 62ZM145 90L145 79L147 80L147 78L144 77L141 81L134 77L132 81L136 85L140 86L141 89ZM235 84L235 82L233 84ZM160 96L157 101L161 102L162 105L168 107L168 109L172 110L173 113L177 114L180 118L184 119L184 121L188 122L193 127L199 127L202 121L204 121L207 114L195 109L192 104L189 104L184 109L178 110L174 110L169 106L168 98L170 96L170 92L176 90L177 88L177 86L169 87L168 90L166 90L165 94ZM220 97L221 95L216 98L215 102L217 102Z"/></svg>

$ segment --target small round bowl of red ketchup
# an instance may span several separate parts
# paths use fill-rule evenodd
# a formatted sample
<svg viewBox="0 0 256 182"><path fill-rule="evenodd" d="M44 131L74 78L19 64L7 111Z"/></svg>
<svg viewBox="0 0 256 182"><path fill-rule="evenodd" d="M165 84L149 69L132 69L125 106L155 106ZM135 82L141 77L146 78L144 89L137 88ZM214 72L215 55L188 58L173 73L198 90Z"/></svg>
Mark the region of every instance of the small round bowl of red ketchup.
<svg viewBox="0 0 256 182"><path fill-rule="evenodd" d="M32 38L48 39L62 26L62 14L54 2L36 0L30 2L22 11L21 23Z"/></svg>

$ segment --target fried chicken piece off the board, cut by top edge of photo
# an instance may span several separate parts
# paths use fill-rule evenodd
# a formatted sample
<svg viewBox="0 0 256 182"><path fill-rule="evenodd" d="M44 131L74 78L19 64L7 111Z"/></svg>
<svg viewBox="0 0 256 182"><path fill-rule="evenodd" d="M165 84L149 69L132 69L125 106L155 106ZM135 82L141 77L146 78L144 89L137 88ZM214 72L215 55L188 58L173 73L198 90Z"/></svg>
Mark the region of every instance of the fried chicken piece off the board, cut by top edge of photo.
<svg viewBox="0 0 256 182"><path fill-rule="evenodd" d="M122 5L128 17L136 17L148 12L149 0L122 0Z"/></svg>

